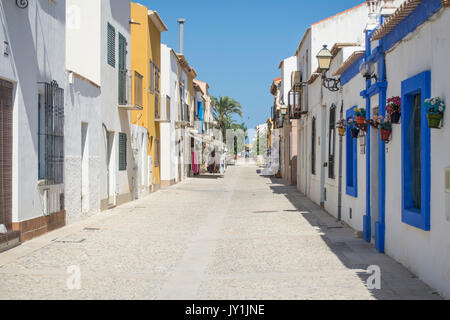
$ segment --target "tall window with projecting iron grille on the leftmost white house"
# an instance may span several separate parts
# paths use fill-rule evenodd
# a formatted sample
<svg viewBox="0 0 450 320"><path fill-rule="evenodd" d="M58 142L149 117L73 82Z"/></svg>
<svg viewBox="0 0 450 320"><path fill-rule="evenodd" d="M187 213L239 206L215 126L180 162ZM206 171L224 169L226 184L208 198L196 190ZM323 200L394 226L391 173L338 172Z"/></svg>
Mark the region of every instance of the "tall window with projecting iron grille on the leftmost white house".
<svg viewBox="0 0 450 320"><path fill-rule="evenodd" d="M56 81L39 83L39 180L64 183L64 90Z"/></svg>

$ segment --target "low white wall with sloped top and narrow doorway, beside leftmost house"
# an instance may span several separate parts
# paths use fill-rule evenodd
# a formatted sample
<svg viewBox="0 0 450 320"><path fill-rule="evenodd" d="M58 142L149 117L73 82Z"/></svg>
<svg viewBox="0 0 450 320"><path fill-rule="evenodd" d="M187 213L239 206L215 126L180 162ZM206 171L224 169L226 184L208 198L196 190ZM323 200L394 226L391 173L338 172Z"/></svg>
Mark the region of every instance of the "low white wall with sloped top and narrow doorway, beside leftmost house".
<svg viewBox="0 0 450 320"><path fill-rule="evenodd" d="M68 38L70 41L70 38ZM67 220L72 222L82 215L91 215L100 210L98 192L103 181L100 171L105 161L100 158L103 147L102 114L100 112L101 88L83 78L74 75L72 84L67 85L65 106L65 179ZM87 176L83 176L82 165L82 125L87 127L85 157ZM82 185L85 185L83 197L87 203L82 210ZM84 201L83 200L83 201ZM84 212L83 212L84 211Z"/></svg>

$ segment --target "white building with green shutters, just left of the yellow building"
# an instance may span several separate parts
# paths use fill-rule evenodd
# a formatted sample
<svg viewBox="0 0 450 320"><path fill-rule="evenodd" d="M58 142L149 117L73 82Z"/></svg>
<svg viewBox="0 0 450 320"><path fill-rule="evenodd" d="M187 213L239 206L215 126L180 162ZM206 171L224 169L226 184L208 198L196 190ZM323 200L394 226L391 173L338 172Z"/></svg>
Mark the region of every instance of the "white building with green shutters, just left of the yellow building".
<svg viewBox="0 0 450 320"><path fill-rule="evenodd" d="M67 21L66 207L74 220L148 193L147 132L130 124L129 110L139 109L130 1L68 0Z"/></svg>

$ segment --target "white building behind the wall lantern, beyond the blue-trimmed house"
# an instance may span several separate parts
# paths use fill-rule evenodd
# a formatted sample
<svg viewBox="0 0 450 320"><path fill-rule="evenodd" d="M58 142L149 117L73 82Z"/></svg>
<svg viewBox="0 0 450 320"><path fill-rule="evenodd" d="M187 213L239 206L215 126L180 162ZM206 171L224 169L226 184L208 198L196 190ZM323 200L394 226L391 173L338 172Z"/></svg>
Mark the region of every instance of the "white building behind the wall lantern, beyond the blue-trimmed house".
<svg viewBox="0 0 450 320"><path fill-rule="evenodd" d="M316 55L323 45L331 48L336 43L364 45L364 28L368 9L365 4L339 13L311 25L303 35L296 50L297 70L300 82L311 82L318 72ZM319 85L303 90L300 101L302 111L307 112L298 122L297 186L300 192L317 204L325 203L326 167L326 119L330 106L326 106ZM315 88L314 88L315 87ZM313 136L314 119L314 136Z"/></svg>

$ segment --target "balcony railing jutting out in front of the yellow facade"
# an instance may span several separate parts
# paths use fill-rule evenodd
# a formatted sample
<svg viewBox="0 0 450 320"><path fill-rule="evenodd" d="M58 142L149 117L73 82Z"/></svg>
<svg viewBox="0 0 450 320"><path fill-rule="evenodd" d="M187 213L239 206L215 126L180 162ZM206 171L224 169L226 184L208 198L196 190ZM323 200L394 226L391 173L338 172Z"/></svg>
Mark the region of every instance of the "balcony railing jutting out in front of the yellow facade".
<svg viewBox="0 0 450 320"><path fill-rule="evenodd" d="M142 110L143 79L137 71L119 70L119 107L127 110ZM132 94L133 93L133 94Z"/></svg>

